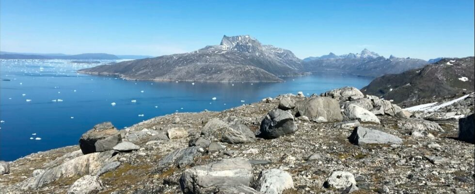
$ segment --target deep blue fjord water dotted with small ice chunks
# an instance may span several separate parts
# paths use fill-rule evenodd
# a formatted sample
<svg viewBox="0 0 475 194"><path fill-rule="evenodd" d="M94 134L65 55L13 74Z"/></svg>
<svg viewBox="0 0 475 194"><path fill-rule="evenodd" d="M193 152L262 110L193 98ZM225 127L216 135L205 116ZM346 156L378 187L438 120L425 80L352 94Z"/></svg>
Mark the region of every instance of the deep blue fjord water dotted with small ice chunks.
<svg viewBox="0 0 475 194"><path fill-rule="evenodd" d="M285 78L283 83L192 85L77 74L77 69L98 64L67 60L0 62L0 160L6 161L78 144L82 133L104 121L121 129L175 112L221 111L279 94L319 94L347 85L362 88L371 81L345 75L312 75ZM41 140L35 140L37 137Z"/></svg>

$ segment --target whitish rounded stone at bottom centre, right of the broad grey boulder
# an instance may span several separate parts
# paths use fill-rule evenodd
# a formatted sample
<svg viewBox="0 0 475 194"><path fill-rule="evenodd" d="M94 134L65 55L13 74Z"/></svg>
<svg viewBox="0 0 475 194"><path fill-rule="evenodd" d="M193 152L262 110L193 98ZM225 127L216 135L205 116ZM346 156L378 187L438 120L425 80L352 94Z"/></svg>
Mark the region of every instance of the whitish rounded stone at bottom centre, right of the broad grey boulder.
<svg viewBox="0 0 475 194"><path fill-rule="evenodd" d="M282 194L284 190L294 188L292 176L280 169L263 170L256 183L256 190L262 194Z"/></svg>

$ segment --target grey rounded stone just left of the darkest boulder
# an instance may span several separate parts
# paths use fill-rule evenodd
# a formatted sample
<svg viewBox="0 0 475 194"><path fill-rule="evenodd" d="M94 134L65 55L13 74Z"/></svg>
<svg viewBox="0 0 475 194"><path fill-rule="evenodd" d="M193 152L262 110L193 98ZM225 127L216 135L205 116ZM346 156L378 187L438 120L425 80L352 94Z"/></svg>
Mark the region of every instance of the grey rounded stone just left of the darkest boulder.
<svg viewBox="0 0 475 194"><path fill-rule="evenodd" d="M221 141L229 144L253 143L255 135L246 125L231 125L225 129Z"/></svg>

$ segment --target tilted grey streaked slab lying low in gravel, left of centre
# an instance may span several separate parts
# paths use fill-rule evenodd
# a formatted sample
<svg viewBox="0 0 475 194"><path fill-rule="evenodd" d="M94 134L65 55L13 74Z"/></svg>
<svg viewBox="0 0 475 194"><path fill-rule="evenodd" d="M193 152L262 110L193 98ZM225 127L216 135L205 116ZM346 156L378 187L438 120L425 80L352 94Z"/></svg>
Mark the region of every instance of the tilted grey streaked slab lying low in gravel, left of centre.
<svg viewBox="0 0 475 194"><path fill-rule="evenodd" d="M199 156L198 146L186 147L175 149L173 152L165 156L160 162L159 165L175 165L180 168L183 168L187 165L190 165L194 162L194 157Z"/></svg>

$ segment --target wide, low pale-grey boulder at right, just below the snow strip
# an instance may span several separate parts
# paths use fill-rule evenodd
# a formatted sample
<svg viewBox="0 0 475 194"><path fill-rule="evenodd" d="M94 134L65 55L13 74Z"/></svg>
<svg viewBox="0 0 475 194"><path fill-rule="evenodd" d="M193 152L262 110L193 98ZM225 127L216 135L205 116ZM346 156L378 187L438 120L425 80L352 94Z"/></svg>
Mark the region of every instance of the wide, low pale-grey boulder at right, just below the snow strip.
<svg viewBox="0 0 475 194"><path fill-rule="evenodd" d="M397 127L407 131L443 131L436 122L419 118L401 119L397 122Z"/></svg>

